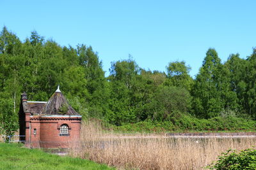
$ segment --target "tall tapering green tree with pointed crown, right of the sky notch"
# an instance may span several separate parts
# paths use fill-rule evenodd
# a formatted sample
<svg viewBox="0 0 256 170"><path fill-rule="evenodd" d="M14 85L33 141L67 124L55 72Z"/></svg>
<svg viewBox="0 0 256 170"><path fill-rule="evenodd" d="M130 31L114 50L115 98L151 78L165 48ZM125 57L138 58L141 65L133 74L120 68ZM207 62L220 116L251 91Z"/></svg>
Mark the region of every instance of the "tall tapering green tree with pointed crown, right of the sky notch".
<svg viewBox="0 0 256 170"><path fill-rule="evenodd" d="M193 88L193 106L195 115L204 118L216 117L219 115L223 102L221 101L221 74L223 66L218 53L209 48L204 58L202 67L196 75Z"/></svg>

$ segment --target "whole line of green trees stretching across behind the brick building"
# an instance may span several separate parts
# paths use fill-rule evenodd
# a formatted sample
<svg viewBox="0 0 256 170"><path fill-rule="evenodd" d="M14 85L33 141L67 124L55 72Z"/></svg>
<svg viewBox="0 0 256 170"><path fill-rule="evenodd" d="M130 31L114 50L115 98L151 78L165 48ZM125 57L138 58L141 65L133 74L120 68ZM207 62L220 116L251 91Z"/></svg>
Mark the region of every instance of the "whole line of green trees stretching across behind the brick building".
<svg viewBox="0 0 256 170"><path fill-rule="evenodd" d="M186 62L176 61L167 64L166 72L150 71L129 57L111 62L106 77L92 46L60 46L36 31L20 41L3 27L0 126L8 118L17 121L21 92L27 92L29 100L47 101L58 84L84 118L117 126L148 121L175 124L180 115L256 119L255 48L246 59L236 53L223 63L209 48L194 79L190 69Z"/></svg>

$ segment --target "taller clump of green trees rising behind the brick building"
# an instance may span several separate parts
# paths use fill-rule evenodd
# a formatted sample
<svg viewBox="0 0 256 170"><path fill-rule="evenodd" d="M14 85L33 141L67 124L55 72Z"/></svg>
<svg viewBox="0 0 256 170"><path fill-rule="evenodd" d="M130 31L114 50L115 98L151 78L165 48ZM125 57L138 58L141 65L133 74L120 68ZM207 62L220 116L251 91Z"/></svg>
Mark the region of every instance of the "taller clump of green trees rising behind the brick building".
<svg viewBox="0 0 256 170"><path fill-rule="evenodd" d="M102 118L108 110L108 82L92 47L61 47L51 39L45 41L36 31L21 43L4 27L0 78L0 96L12 97L16 114L21 92L28 92L30 100L47 101L58 84L84 117L90 113Z"/></svg>

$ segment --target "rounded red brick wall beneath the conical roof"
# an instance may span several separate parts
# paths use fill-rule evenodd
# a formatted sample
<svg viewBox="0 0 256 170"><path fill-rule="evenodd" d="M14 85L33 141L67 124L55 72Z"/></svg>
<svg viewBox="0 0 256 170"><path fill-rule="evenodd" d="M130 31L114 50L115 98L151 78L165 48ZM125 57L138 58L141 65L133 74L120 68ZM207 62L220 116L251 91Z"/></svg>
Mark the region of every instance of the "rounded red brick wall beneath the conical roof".
<svg viewBox="0 0 256 170"><path fill-rule="evenodd" d="M81 117L33 116L29 118L31 122L31 147L68 148L79 140ZM68 136L60 136L60 126L63 124L68 125Z"/></svg>

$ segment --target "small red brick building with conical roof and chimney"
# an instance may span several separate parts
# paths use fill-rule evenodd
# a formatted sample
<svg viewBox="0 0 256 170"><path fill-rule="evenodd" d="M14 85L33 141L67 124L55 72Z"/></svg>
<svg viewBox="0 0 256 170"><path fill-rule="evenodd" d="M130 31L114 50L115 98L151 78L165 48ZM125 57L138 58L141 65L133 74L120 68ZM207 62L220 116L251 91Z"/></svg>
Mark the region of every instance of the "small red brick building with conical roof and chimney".
<svg viewBox="0 0 256 170"><path fill-rule="evenodd" d="M60 86L49 101L28 101L21 94L19 111L20 137L33 148L68 148L80 136L81 115L67 102Z"/></svg>

